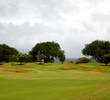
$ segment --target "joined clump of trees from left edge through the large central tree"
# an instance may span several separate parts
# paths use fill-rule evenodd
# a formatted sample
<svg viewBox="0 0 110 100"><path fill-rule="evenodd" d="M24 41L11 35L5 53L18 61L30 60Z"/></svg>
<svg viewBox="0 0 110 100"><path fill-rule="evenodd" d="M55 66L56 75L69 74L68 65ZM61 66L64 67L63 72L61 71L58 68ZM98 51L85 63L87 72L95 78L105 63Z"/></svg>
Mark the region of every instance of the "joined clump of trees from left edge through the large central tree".
<svg viewBox="0 0 110 100"><path fill-rule="evenodd" d="M54 59L59 59L62 63L65 61L65 52L61 50L57 42L42 42L37 43L28 54L20 53L17 49L6 44L0 44L0 63L11 62L35 62L42 61L44 63L54 62Z"/></svg>

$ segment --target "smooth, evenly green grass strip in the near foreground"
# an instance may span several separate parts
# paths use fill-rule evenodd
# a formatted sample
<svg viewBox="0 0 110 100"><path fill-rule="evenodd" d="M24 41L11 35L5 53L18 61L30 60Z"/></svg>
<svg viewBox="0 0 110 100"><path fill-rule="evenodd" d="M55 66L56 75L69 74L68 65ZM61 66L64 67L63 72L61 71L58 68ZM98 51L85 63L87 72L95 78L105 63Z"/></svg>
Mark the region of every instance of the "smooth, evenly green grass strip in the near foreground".
<svg viewBox="0 0 110 100"><path fill-rule="evenodd" d="M96 80L3 80L1 82L1 100L16 99L39 100L53 98L75 98L100 89L103 81ZM6 83L8 83L6 85ZM19 97L20 96L20 97ZM23 98L23 99L22 99ZM29 99L30 98L30 99Z"/></svg>

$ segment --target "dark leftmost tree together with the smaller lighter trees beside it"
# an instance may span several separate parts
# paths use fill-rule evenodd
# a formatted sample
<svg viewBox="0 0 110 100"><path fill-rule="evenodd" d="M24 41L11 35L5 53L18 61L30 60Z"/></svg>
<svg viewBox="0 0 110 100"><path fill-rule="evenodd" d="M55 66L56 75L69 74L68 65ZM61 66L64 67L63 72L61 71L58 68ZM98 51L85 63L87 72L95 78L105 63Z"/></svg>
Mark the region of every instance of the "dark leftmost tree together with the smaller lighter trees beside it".
<svg viewBox="0 0 110 100"><path fill-rule="evenodd" d="M10 47L6 44L0 44L0 63L1 62L30 62L32 61L32 56L28 54L19 53L15 48Z"/></svg>

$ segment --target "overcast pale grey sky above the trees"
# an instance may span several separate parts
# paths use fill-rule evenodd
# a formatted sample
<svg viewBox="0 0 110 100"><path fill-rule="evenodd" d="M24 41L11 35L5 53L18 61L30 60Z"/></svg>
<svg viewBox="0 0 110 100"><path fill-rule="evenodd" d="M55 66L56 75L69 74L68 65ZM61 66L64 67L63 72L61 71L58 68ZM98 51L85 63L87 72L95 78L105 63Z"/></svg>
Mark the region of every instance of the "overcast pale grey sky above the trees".
<svg viewBox="0 0 110 100"><path fill-rule="evenodd" d="M55 41L77 58L97 39L110 40L110 0L0 0L0 44L27 53Z"/></svg>

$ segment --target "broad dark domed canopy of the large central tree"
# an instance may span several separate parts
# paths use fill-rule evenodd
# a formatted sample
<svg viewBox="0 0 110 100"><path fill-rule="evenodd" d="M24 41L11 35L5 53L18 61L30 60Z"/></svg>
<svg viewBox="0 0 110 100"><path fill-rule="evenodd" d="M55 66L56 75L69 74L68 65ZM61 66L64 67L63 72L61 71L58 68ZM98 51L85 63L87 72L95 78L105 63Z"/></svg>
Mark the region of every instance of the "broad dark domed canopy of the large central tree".
<svg viewBox="0 0 110 100"><path fill-rule="evenodd" d="M52 62L54 57L59 57L59 51L61 51L60 45L56 42L42 42L36 44L32 51L29 52L33 56L33 60L36 59L37 54L44 54L44 62Z"/></svg>

